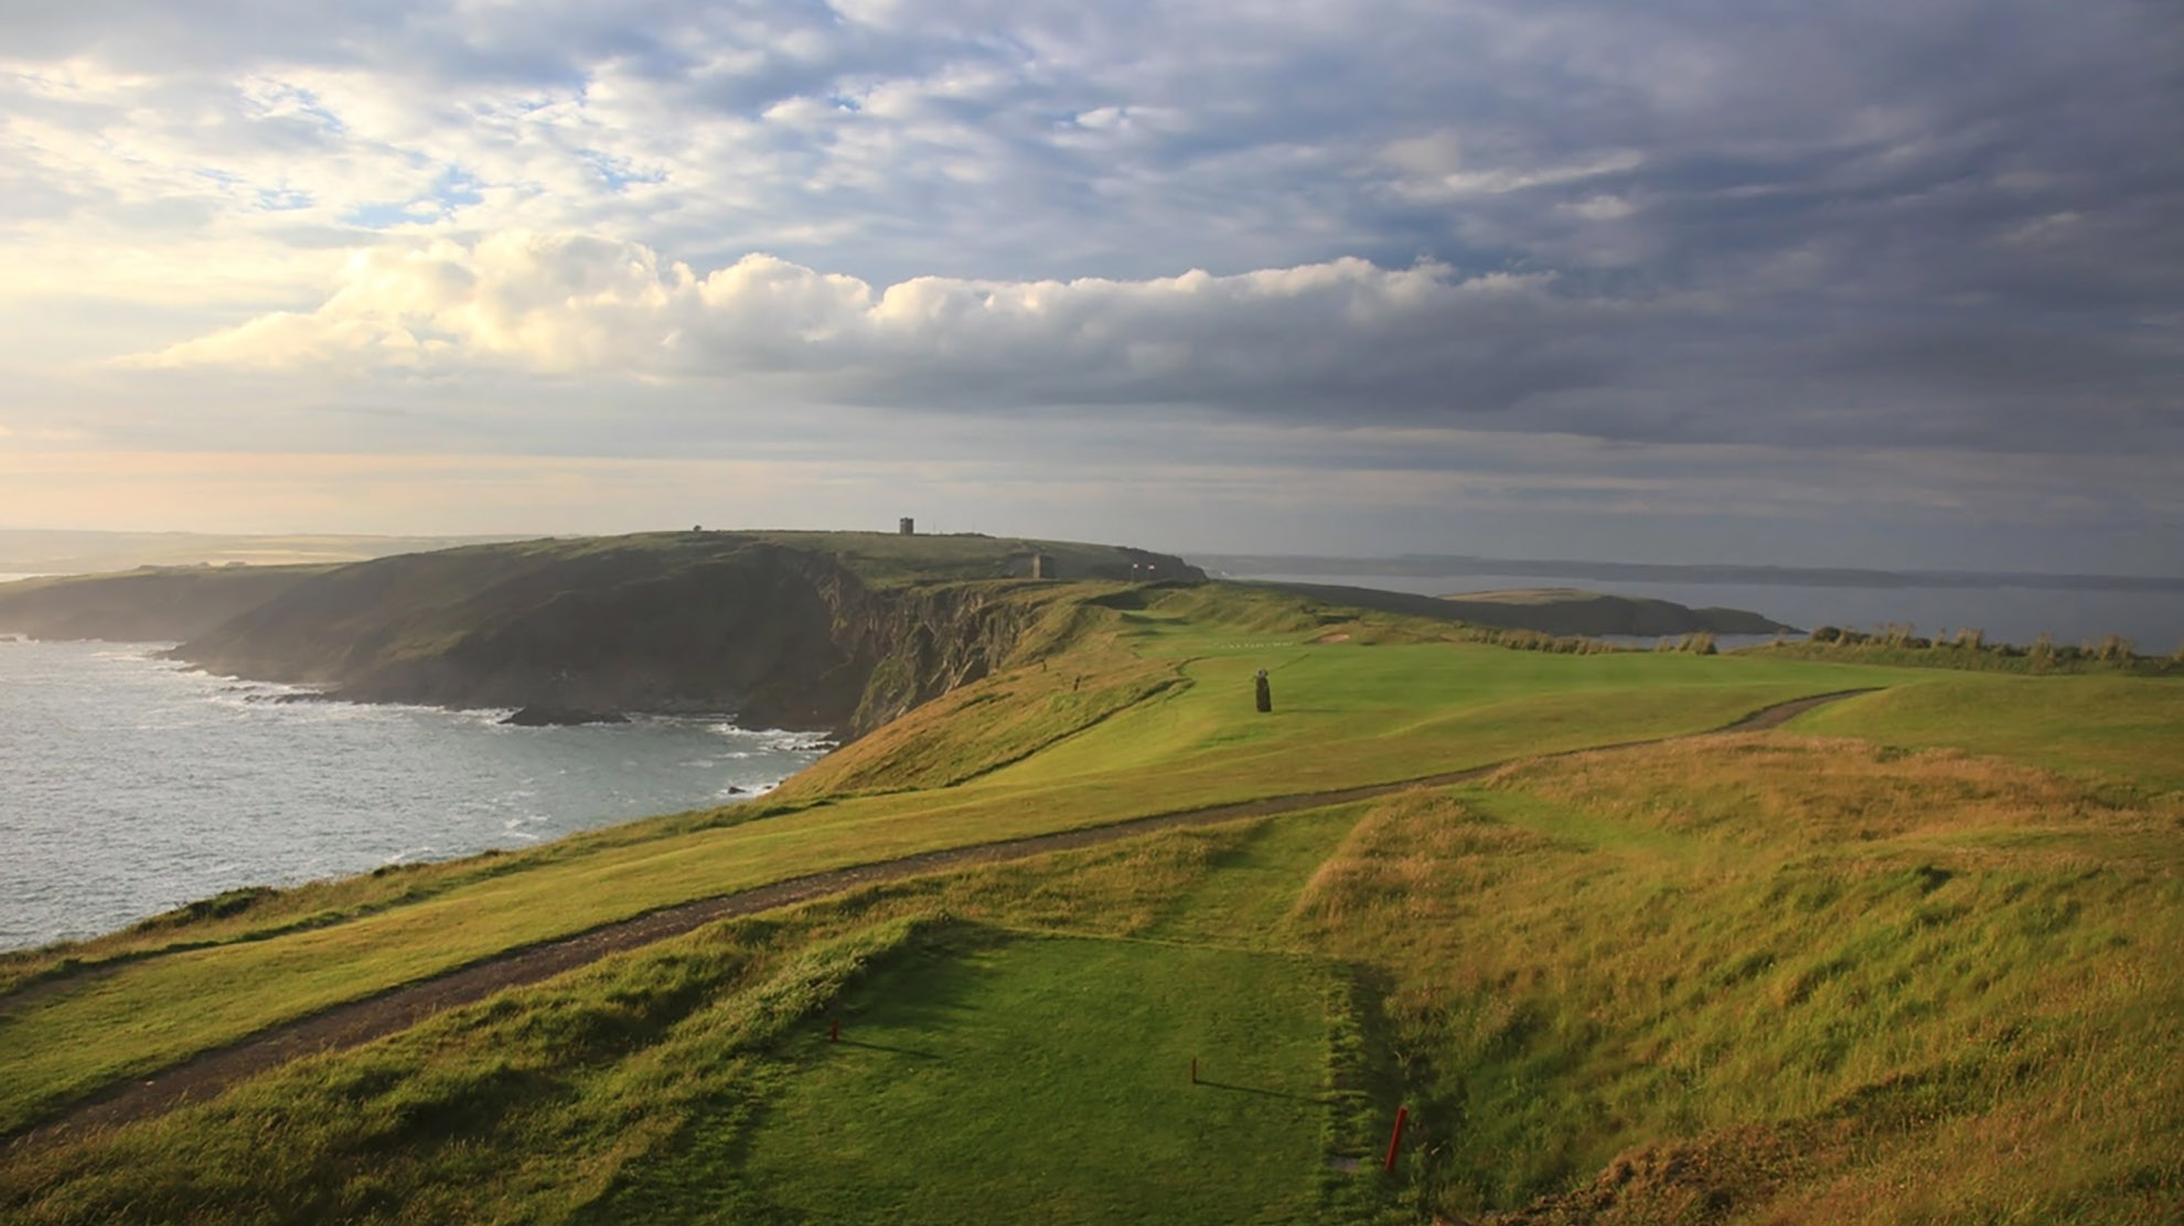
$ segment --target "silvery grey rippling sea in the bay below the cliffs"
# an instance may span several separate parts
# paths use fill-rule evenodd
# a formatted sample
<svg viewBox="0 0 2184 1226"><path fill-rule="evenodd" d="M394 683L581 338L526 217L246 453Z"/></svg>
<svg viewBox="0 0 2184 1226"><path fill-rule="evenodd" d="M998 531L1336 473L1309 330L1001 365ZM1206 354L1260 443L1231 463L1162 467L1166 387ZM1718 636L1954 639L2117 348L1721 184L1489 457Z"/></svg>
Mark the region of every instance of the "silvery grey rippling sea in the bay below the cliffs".
<svg viewBox="0 0 2184 1226"><path fill-rule="evenodd" d="M0 639L0 949L721 805L826 750L703 718L518 729L507 711L325 702L159 648Z"/></svg>

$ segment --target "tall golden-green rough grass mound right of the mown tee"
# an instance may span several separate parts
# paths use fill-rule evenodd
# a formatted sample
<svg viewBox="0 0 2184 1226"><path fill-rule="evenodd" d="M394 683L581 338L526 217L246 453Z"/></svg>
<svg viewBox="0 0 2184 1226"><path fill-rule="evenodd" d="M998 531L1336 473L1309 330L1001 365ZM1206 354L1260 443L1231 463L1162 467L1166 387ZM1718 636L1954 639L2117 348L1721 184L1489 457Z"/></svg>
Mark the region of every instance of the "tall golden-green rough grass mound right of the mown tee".
<svg viewBox="0 0 2184 1226"><path fill-rule="evenodd" d="M1374 809L1297 923L1389 977L1433 1211L2162 1222L2184 809L1719 737Z"/></svg>

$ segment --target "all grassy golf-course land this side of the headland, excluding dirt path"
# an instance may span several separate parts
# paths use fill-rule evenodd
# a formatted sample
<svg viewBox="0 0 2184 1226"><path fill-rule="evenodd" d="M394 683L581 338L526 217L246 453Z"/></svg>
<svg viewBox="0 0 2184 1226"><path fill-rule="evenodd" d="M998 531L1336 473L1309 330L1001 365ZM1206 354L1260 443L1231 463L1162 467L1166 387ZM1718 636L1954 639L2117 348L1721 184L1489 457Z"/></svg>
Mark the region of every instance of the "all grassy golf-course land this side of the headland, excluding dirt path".
<svg viewBox="0 0 2184 1226"><path fill-rule="evenodd" d="M1011 609L989 672L767 801L0 962L0 1130L692 897L1514 766L723 921L11 1150L0 1215L2180 1217L2184 685L1509 652L1251 587L959 582ZM1540 757L1854 687L1883 692Z"/></svg>

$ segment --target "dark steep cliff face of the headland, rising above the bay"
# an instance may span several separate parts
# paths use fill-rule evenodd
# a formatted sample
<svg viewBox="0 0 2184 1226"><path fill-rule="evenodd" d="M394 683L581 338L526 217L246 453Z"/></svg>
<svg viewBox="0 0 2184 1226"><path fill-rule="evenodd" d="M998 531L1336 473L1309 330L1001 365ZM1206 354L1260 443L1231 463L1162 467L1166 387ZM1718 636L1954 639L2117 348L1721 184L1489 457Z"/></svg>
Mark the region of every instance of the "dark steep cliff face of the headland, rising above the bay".
<svg viewBox="0 0 2184 1226"><path fill-rule="evenodd" d="M450 556L470 554L470 556ZM732 711L863 735L1013 650L1013 585L874 587L830 554L454 550L343 567L175 650L367 702Z"/></svg>

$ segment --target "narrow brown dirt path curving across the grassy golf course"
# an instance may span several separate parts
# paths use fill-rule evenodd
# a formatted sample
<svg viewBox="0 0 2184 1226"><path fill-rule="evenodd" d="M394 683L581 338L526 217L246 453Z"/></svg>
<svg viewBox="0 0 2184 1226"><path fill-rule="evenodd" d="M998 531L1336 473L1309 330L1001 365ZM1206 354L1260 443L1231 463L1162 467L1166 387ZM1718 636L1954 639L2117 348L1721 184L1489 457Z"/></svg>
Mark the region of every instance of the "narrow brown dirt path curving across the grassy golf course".
<svg viewBox="0 0 2184 1226"><path fill-rule="evenodd" d="M1815 694L1813 698L1795 698L1791 702L1778 702L1773 707L1754 711L1743 720L1736 720L1734 724L1712 729L1708 733L1686 733L1682 737L1647 737L1636 742L1586 746L1577 750L1538 755L1518 761L1538 761L1540 757L1570 757L1575 753L1597 753L1607 748L1634 748L1673 740L1688 740L1693 735L1747 733L1758 729L1773 729L1824 702L1835 702L1839 698L1850 698L1854 694L1870 694L1870 692L1872 689L1841 689L1837 694ZM9 1147L59 1141L72 1134L81 1134L90 1128L129 1123L133 1119L146 1119L159 1115L164 1110L181 1106L183 1102L207 1099L245 1078L286 1065L288 1060L312 1056L317 1051L339 1051L345 1047L358 1047L363 1043L371 1043L373 1038L395 1034L397 1030L408 1030L411 1025L417 1025L419 1021L437 1012L480 1001L502 988L550 979L553 975L559 975L563 971L572 971L577 966L585 966L590 962L607 958L609 953L620 953L625 949L638 949L655 940L681 936L716 918L769 912L773 908L804 903L826 894L841 894L858 886L871 886L878 881L900 881L904 877L919 877L926 873L939 873L943 868L998 864L1007 860L1029 860L1033 855L1096 846L1103 842L1114 842L1153 831L1203 827L1214 822L1232 822L1241 818L1260 818L1273 814L1293 814L1299 809L1319 809L1326 805L1348 805L1352 801L1369 801L1374 796L1387 796L1391 792L1402 792L1406 788L1439 788L1448 783L1463 783L1470 779L1481 779L1494 770L1500 770L1503 766L1507 764L1494 761L1487 766L1472 766L1468 770L1452 770L1446 774L1424 774L1420 779L1402 779L1396 783L1369 783L1365 788L1341 788L1334 792L1299 792L1291 796L1265 796L1260 801L1212 805L1206 809L1182 809L1173 814L1155 814L1149 818L1133 818L1127 822L1112 822L1103 827L1081 827L1059 833L1011 838L1002 842L981 842L974 846L954 846L946 851L926 851L919 855L906 855L902 860L882 860L878 864L858 864L854 868L834 868L830 873L791 877L786 881L775 881L773 886L760 886L756 890L740 890L734 894L719 894L712 899L699 899L695 903L681 903L657 912L646 912L642 916L594 927L577 936L566 936L559 940L531 945L524 949L511 949L485 962L474 962L470 966L461 966L456 971L448 971L430 979L417 979L411 984L402 984L397 988L389 988L376 997L347 1001L297 1021L260 1030L258 1034L251 1034L229 1047L218 1047L192 1056L181 1065L173 1065L149 1078L109 1086L107 1091L100 1091L92 1099L63 1110L59 1117L28 1132L17 1134L9 1143Z"/></svg>

